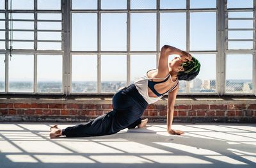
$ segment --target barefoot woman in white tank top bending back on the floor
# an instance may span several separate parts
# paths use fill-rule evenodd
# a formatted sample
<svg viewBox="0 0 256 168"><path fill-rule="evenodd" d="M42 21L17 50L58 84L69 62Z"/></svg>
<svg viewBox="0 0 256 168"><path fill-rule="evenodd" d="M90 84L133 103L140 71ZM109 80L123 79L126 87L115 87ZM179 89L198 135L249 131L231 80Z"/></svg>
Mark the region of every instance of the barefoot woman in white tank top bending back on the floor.
<svg viewBox="0 0 256 168"><path fill-rule="evenodd" d="M177 54L168 63L168 57ZM141 120L143 111L150 103L157 102L168 93L167 132L181 135L184 132L172 129L174 104L179 91L179 80L192 80L198 75L200 63L188 52L164 45L161 49L158 68L121 89L113 96L113 111L108 112L85 125L70 126L63 130L54 125L50 137L90 137L110 135L124 128L142 128L147 119Z"/></svg>

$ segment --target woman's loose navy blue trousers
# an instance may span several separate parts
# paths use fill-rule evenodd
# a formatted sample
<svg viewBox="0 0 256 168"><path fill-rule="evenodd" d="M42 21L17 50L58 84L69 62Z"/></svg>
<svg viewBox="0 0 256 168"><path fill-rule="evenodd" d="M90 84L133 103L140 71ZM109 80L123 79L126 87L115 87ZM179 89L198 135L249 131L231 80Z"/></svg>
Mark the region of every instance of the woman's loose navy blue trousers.
<svg viewBox="0 0 256 168"><path fill-rule="evenodd" d="M135 128L141 123L143 111L148 103L131 84L118 91L112 99L113 111L108 112L89 123L70 126L62 130L66 137L92 137L110 135L124 128Z"/></svg>

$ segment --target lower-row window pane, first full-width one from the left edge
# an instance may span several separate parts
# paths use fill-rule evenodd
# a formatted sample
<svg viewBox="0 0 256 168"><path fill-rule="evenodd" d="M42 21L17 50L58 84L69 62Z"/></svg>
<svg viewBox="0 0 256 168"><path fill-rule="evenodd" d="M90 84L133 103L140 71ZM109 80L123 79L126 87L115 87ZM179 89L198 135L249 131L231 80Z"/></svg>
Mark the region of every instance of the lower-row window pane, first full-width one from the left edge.
<svg viewBox="0 0 256 168"><path fill-rule="evenodd" d="M33 55L12 54L12 57L9 58L10 92L33 92L33 67Z"/></svg>

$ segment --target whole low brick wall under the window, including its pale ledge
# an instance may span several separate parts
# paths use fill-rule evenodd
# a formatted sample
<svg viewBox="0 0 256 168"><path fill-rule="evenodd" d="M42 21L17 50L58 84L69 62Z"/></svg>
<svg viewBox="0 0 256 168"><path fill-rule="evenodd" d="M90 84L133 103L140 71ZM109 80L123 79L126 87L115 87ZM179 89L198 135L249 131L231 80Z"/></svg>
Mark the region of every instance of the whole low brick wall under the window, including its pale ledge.
<svg viewBox="0 0 256 168"><path fill-rule="evenodd" d="M148 105L142 118L166 121L167 101ZM88 121L111 111L111 99L0 99L0 121ZM256 98L177 99L174 121L256 123Z"/></svg>

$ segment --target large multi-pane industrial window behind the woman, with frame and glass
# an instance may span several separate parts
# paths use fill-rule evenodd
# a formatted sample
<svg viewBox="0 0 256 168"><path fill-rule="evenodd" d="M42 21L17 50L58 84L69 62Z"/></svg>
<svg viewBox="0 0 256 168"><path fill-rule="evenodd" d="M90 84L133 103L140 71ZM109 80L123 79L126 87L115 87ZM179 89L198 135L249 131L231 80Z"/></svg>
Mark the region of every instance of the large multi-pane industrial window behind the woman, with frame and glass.
<svg viewBox="0 0 256 168"><path fill-rule="evenodd" d="M196 79L179 82L180 95L255 95L255 5L255 0L0 1L0 93L115 93L157 68L167 44L201 63Z"/></svg>

